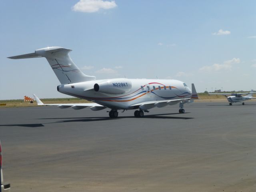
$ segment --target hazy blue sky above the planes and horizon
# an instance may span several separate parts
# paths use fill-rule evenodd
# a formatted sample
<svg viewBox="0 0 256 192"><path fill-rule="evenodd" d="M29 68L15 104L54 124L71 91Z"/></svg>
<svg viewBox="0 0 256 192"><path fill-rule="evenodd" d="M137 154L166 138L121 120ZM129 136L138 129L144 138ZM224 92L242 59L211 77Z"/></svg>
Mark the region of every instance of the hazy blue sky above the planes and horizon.
<svg viewBox="0 0 256 192"><path fill-rule="evenodd" d="M45 58L6 58L48 46L72 49L76 65L97 79L256 90L254 0L78 2L0 1L0 99L67 97Z"/></svg>

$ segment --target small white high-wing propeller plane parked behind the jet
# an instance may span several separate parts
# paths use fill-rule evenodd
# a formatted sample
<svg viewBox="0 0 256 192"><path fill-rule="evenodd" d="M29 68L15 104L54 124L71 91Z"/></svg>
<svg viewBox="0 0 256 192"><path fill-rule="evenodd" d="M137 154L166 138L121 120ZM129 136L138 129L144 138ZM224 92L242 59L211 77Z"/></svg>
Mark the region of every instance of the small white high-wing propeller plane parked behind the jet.
<svg viewBox="0 0 256 192"><path fill-rule="evenodd" d="M232 105L232 103L240 102L242 105L244 105L244 101L250 100L250 99L256 99L256 97L252 97L252 95L256 93L251 90L250 93L209 93L209 95L224 95L226 96L229 105ZM230 95L230 96L227 96ZM243 96L246 95L246 96Z"/></svg>

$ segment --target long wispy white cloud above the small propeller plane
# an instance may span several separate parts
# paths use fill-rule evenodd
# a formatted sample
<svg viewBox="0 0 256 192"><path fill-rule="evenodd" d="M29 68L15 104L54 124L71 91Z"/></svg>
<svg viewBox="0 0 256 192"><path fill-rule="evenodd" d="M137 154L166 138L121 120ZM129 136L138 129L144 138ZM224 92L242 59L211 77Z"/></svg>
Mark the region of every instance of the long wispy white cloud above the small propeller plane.
<svg viewBox="0 0 256 192"><path fill-rule="evenodd" d="M233 64L238 64L240 62L241 62L240 58L232 58L231 60L224 61L223 64L215 63L211 66L204 66L200 68L199 71L211 72L211 71L231 70L231 68L233 67Z"/></svg>

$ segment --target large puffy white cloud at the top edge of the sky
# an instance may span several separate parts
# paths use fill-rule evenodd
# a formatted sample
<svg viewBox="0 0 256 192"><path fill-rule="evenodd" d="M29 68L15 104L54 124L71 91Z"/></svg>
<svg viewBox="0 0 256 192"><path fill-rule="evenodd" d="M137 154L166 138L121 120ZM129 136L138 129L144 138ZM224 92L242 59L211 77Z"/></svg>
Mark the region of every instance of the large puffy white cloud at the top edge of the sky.
<svg viewBox="0 0 256 192"><path fill-rule="evenodd" d="M93 13L100 9L112 9L117 5L115 1L103 1L103 0L80 0L73 7L73 11Z"/></svg>

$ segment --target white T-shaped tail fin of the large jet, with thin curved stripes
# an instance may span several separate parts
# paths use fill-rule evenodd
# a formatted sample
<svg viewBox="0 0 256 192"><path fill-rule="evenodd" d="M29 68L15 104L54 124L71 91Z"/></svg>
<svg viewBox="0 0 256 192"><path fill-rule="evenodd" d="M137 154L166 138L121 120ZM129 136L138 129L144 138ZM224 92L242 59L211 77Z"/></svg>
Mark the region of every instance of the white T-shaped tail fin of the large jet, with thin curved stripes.
<svg viewBox="0 0 256 192"><path fill-rule="evenodd" d="M34 53L8 57L10 59L26 59L45 57L61 84L77 83L95 80L94 76L85 75L74 64L69 56L70 49L48 47L36 50Z"/></svg>

